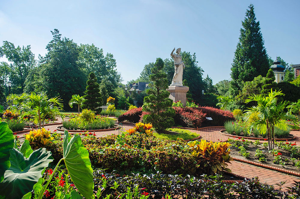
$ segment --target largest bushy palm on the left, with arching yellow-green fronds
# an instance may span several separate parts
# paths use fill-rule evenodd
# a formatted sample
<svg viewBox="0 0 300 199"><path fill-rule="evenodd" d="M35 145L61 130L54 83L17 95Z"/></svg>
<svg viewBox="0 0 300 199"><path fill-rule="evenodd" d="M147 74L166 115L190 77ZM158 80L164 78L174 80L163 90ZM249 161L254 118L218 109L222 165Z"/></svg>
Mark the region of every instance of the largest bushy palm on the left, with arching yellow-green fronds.
<svg viewBox="0 0 300 199"><path fill-rule="evenodd" d="M41 92L40 94L31 93L28 96L28 101L26 103L22 103L19 107L19 112L22 114L19 116L19 119L22 121L24 116L31 115L33 118L34 124L39 124L39 128L41 128L41 122L44 121L46 115L62 116L59 112L62 110L61 99L58 97L48 99L46 93Z"/></svg>

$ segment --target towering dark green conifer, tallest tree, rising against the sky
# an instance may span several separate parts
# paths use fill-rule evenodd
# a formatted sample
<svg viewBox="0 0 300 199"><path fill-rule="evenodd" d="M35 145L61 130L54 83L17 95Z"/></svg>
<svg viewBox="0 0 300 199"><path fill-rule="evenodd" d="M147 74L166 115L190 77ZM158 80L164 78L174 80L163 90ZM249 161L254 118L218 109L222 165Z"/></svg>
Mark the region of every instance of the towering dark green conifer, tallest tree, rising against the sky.
<svg viewBox="0 0 300 199"><path fill-rule="evenodd" d="M256 21L252 4L246 11L242 21L239 42L236 46L231 67L232 95L236 96L243 88L243 82L252 81L258 75L266 76L269 69L268 55L264 47L264 40Z"/></svg>

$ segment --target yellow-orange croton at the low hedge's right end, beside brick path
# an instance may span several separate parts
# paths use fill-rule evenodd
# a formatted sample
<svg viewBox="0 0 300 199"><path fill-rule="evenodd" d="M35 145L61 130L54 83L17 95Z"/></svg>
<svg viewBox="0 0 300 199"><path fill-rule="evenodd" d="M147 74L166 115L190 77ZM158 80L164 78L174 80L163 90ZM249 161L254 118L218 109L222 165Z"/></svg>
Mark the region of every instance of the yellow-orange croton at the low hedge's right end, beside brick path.
<svg viewBox="0 0 300 199"><path fill-rule="evenodd" d="M228 142L207 142L201 139L200 142L190 141L187 145L192 148L192 155L198 159L199 167L207 168L208 174L222 173L222 171L231 172L226 168L227 163L232 161Z"/></svg>

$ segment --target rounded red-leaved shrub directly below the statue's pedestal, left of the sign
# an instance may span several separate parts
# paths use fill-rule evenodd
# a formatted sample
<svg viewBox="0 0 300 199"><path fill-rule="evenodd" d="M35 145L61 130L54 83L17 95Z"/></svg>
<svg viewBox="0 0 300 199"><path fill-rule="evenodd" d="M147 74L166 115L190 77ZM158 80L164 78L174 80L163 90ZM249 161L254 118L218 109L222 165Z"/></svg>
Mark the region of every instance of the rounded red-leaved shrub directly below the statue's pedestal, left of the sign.
<svg viewBox="0 0 300 199"><path fill-rule="evenodd" d="M175 124L181 125L183 127L201 127L201 123L202 121L204 121L206 115L201 110L191 107L173 107L173 109L175 109Z"/></svg>

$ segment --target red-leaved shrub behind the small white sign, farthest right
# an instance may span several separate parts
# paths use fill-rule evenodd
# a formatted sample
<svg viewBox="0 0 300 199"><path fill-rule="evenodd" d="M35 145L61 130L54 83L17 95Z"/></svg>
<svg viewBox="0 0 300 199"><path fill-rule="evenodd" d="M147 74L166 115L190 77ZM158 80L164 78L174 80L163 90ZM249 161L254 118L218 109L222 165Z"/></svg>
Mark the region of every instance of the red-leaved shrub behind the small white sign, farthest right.
<svg viewBox="0 0 300 199"><path fill-rule="evenodd" d="M223 111L209 106L202 106L196 108L203 113L206 113L206 117L211 117L212 120L204 120L202 127L209 126L223 126L224 122L235 120L233 114L230 111Z"/></svg>

